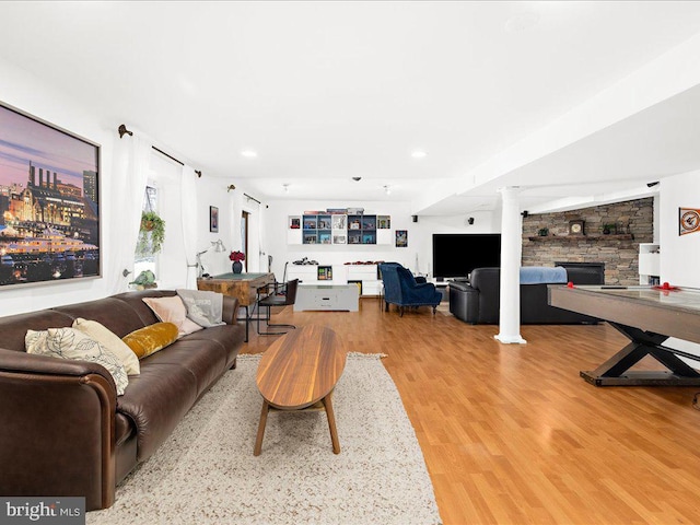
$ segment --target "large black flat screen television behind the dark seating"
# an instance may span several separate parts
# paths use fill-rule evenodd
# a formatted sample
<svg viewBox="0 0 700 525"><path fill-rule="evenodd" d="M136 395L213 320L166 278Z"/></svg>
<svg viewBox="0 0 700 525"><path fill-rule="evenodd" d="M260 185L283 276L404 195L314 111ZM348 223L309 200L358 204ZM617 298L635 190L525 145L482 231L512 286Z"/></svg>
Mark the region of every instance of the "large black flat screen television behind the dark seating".
<svg viewBox="0 0 700 525"><path fill-rule="evenodd" d="M434 233L433 276L467 278L475 268L501 266L500 233Z"/></svg>

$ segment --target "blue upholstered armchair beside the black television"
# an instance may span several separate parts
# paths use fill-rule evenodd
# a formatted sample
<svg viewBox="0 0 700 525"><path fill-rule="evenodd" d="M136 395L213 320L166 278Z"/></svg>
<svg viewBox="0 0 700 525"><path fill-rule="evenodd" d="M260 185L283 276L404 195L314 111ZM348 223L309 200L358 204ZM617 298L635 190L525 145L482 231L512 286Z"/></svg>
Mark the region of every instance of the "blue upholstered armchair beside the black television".
<svg viewBox="0 0 700 525"><path fill-rule="evenodd" d="M411 270L398 262L382 264L380 270L384 283L384 304L387 311L389 304L396 304L402 316L406 306L432 306L433 315L435 314L438 305L442 301L442 293L435 289L432 282L425 282L424 278L416 279Z"/></svg>

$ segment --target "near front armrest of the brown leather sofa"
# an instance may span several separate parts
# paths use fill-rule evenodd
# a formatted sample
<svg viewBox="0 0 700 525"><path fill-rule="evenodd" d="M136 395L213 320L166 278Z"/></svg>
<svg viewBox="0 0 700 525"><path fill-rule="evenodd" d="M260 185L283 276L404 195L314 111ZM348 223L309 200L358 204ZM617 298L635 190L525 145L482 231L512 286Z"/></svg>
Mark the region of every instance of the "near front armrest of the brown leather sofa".
<svg viewBox="0 0 700 525"><path fill-rule="evenodd" d="M110 506L116 398L96 363L0 349L0 493Z"/></svg>

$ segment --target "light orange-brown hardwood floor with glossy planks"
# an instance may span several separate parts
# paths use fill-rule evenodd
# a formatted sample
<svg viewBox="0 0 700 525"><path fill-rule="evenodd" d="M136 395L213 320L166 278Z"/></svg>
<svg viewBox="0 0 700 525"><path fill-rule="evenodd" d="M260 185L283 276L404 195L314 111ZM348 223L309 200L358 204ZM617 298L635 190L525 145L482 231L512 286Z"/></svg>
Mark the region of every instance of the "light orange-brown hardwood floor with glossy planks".
<svg viewBox="0 0 700 525"><path fill-rule="evenodd" d="M325 325L350 351L388 355L445 525L700 523L700 387L580 378L627 342L606 324L524 326L527 345L501 345L498 326L399 317L374 299L272 322ZM252 325L244 352L275 339Z"/></svg>

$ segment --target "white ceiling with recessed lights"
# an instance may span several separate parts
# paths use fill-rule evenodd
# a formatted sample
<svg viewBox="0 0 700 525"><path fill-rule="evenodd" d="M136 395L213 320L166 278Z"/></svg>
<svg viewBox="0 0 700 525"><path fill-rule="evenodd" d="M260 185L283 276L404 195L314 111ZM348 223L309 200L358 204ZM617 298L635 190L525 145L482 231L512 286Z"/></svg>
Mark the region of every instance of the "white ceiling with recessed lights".
<svg viewBox="0 0 700 525"><path fill-rule="evenodd" d="M700 167L690 90L457 190L698 32L695 1L0 2L0 55L115 132L259 200L408 200L421 214L491 209L504 185L523 186L524 208L565 208Z"/></svg>

